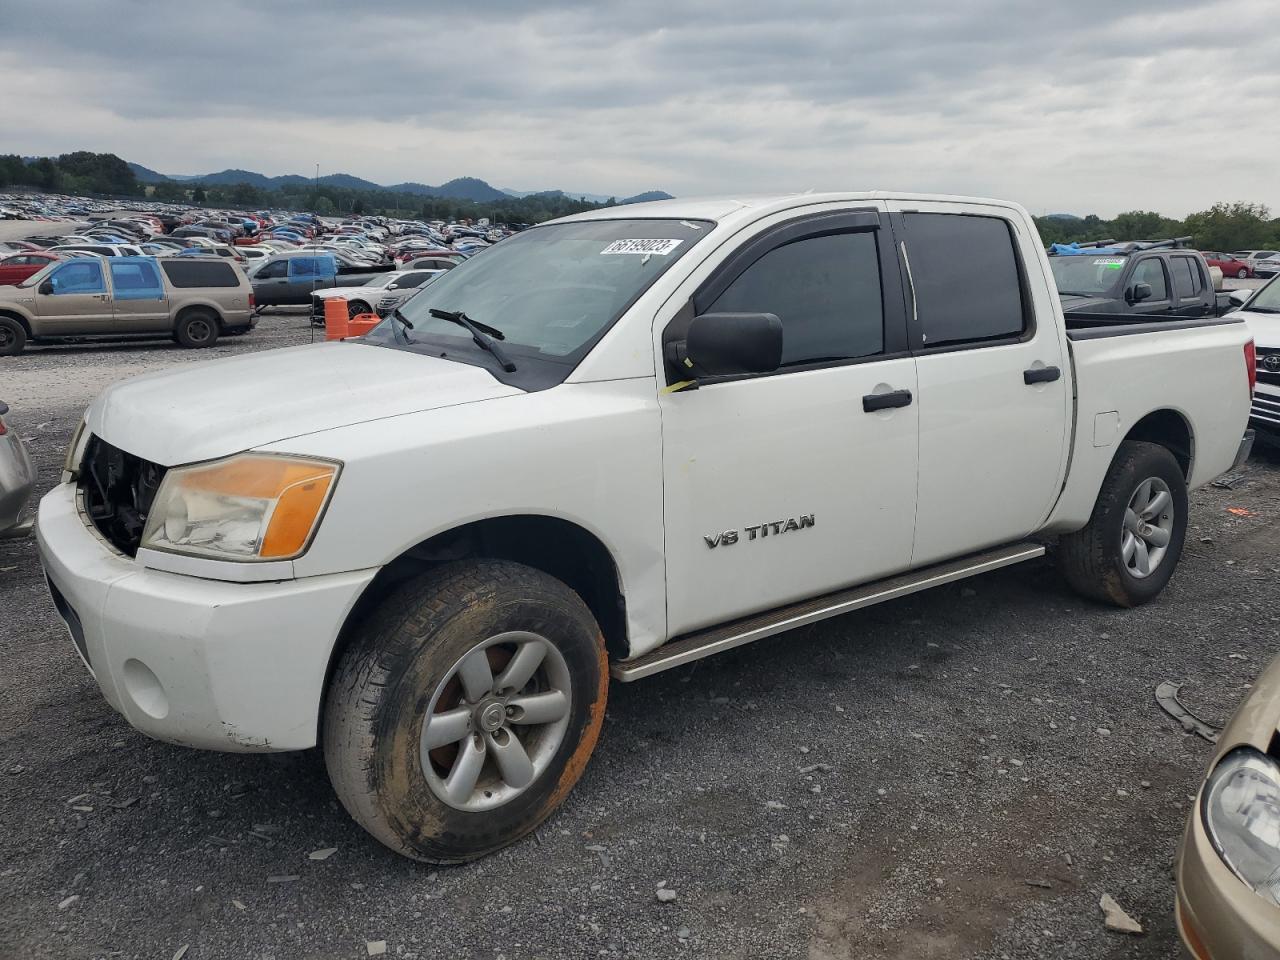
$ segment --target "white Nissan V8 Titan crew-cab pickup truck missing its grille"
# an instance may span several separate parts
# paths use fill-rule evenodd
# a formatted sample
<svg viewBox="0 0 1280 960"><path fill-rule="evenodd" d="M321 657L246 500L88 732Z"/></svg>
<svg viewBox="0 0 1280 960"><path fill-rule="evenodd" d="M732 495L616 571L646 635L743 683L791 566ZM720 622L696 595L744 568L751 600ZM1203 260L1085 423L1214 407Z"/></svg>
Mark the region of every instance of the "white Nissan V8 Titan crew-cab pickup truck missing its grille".
<svg viewBox="0 0 1280 960"><path fill-rule="evenodd" d="M435 863L526 835L609 676L1039 557L1120 605L1247 456L1228 319L1069 326L1015 204L666 201L536 227L358 340L116 384L42 500L138 730L323 746ZM1242 439L1244 438L1244 439Z"/></svg>

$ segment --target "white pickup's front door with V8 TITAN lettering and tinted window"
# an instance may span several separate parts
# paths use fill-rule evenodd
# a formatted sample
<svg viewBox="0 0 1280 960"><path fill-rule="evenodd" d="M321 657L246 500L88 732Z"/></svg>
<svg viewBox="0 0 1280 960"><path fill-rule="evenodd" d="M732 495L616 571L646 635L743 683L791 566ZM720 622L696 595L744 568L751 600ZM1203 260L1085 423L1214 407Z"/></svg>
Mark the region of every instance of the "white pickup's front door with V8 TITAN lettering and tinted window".
<svg viewBox="0 0 1280 960"><path fill-rule="evenodd" d="M672 321L776 314L783 355L659 397L671 635L910 562L919 407L882 209L765 225Z"/></svg>

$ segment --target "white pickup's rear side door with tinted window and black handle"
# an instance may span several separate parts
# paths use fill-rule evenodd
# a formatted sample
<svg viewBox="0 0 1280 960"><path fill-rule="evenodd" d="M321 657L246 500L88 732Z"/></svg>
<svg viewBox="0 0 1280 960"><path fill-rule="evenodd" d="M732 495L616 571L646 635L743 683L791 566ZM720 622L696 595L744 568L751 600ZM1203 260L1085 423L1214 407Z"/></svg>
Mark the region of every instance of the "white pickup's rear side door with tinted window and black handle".
<svg viewBox="0 0 1280 960"><path fill-rule="evenodd" d="M1062 484L1071 384L1055 287L1020 218L966 204L890 209L916 365L919 567L1039 527Z"/></svg>

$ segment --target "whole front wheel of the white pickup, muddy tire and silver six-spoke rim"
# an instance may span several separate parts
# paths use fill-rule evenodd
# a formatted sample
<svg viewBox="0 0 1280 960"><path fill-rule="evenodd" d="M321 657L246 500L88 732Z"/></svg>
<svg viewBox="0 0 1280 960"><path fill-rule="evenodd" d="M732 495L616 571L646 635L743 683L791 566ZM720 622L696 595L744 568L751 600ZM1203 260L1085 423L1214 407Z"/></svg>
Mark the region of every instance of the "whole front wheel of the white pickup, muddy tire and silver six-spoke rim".
<svg viewBox="0 0 1280 960"><path fill-rule="evenodd" d="M604 641L581 598L518 563L442 566L388 596L329 686L324 754L374 837L474 860L559 806L604 721Z"/></svg>

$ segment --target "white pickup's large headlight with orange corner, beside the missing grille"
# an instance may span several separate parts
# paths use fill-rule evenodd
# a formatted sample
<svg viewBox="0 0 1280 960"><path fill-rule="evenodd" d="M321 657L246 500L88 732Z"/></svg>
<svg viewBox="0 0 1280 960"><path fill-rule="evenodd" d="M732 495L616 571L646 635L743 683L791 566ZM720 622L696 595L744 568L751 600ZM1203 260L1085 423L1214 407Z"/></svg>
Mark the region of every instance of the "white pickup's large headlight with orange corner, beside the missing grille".
<svg viewBox="0 0 1280 960"><path fill-rule="evenodd" d="M174 467L156 492L142 547L227 561L284 561L311 543L339 463L269 453Z"/></svg>

